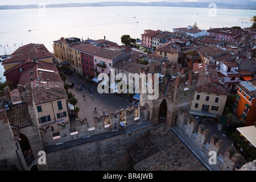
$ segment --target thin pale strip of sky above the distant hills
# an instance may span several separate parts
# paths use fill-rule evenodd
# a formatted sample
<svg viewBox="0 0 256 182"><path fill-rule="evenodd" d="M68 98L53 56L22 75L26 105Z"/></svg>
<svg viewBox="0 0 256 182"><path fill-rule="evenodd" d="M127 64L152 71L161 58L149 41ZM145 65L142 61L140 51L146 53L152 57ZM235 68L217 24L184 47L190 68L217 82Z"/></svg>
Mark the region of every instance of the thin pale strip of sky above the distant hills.
<svg viewBox="0 0 256 182"><path fill-rule="evenodd" d="M127 2L159 2L163 0L0 0L0 5L45 5L60 4L60 3L91 3L91 2L114 2L114 1L127 1ZM170 0L169 0L170 1ZM173 0L173 2L180 1L197 1L197 0Z"/></svg>

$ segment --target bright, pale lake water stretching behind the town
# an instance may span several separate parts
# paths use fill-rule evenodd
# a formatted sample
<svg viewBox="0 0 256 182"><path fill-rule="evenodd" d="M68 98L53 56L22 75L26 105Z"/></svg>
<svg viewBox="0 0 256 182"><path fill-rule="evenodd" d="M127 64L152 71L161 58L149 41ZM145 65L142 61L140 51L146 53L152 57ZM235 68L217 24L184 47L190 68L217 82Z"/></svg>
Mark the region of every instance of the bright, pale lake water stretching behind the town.
<svg viewBox="0 0 256 182"><path fill-rule="evenodd" d="M256 10L189 7L67 7L0 10L0 55L13 53L28 43L44 44L53 52L54 40L75 36L80 39L106 39L121 44L121 36L141 38L143 30L173 31L195 22L200 29L210 27L250 27ZM137 23L138 22L138 23ZM31 31L28 31L31 30ZM8 46L7 46L8 45ZM3 67L0 66L2 81Z"/></svg>

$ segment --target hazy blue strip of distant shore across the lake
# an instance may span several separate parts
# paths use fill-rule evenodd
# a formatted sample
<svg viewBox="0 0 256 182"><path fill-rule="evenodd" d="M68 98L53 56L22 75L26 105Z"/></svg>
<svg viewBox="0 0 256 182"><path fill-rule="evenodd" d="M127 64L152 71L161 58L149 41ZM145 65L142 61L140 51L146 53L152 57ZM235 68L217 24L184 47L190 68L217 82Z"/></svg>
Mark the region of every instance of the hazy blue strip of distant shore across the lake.
<svg viewBox="0 0 256 182"><path fill-rule="evenodd" d="M255 5L231 5L228 3L216 3L218 9L241 9L241 10L256 10ZM171 3L171 2L98 2L98 3L63 3L46 5L46 8L56 7L107 7L107 6L155 6L155 7L195 7L195 8L210 8L206 2L186 2L186 3ZM40 9L42 5L1 5L0 10L13 9Z"/></svg>

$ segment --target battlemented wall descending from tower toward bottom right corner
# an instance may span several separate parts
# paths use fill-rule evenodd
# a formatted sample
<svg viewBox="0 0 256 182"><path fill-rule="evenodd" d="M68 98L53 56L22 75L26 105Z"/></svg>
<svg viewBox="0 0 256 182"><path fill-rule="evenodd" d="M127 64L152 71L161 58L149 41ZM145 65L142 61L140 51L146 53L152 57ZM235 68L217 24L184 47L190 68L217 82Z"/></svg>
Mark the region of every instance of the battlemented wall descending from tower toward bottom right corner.
<svg viewBox="0 0 256 182"><path fill-rule="evenodd" d="M216 152L216 165L223 171L233 171L238 164L238 161L242 158L242 155L235 153L232 146L226 148L225 155L222 156L220 151L224 146L224 141L219 140L216 134L210 137L210 130L205 129L204 125L198 126L197 133L197 120L194 118L188 118L187 123L182 127L185 135L187 135L193 143L204 152L205 156L212 156L212 152ZM207 143L207 139L210 137L210 143Z"/></svg>

